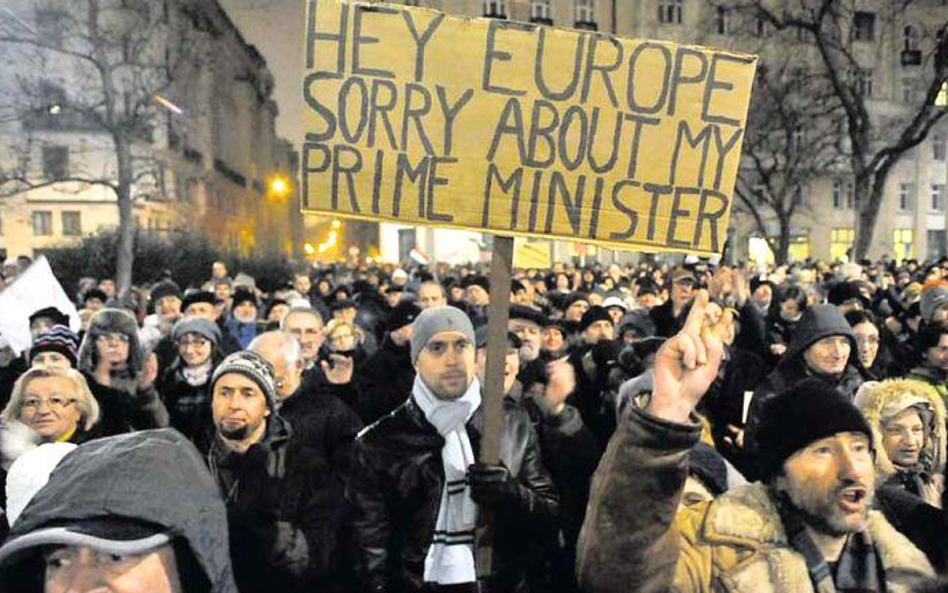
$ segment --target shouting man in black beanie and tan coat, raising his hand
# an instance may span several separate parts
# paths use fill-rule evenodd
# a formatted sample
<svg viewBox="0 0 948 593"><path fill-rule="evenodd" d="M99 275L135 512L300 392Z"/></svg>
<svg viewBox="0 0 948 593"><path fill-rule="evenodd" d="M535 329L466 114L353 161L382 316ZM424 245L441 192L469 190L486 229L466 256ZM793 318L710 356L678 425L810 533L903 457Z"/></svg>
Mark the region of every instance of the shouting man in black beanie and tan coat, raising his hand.
<svg viewBox="0 0 948 593"><path fill-rule="evenodd" d="M724 356L701 291L655 360L654 390L623 417L593 479L579 542L584 591L898 591L934 571L877 511L872 431L820 381L761 415L762 483L676 513L693 415ZM644 508L648 512L642 512Z"/></svg>

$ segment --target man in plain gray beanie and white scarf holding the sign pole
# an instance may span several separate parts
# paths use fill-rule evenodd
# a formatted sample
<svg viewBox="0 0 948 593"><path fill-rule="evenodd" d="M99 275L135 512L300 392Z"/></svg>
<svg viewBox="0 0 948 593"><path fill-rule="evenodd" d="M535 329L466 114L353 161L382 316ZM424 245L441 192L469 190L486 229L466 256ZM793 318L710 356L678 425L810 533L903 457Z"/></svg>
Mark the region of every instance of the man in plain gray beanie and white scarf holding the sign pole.
<svg viewBox="0 0 948 593"><path fill-rule="evenodd" d="M481 506L495 513L496 541L504 542L489 580L497 590L518 590L523 554L535 545L525 538L559 514L530 419L511 400L504 400L501 463L476 463L483 418L474 355L467 315L444 306L422 311L411 337L411 393L356 440L349 494L366 591L477 591Z"/></svg>

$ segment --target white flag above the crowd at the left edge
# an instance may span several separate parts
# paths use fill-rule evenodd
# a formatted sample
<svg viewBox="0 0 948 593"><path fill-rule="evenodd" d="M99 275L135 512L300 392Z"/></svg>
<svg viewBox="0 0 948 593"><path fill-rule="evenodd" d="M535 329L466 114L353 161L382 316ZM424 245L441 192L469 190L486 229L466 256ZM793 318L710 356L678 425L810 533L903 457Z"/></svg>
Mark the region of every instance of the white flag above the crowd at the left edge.
<svg viewBox="0 0 948 593"><path fill-rule="evenodd" d="M0 292L0 338L9 343L18 356L33 343L30 315L46 307L56 307L69 315L69 327L74 332L79 331L76 306L56 280L49 262L40 256Z"/></svg>

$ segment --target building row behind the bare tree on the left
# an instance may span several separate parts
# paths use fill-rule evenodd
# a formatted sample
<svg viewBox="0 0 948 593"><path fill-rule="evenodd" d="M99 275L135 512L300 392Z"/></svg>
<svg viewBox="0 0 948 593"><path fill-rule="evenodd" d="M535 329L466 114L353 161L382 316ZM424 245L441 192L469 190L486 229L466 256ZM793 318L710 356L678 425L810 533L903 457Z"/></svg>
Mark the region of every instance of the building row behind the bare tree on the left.
<svg viewBox="0 0 948 593"><path fill-rule="evenodd" d="M101 23L129 27L119 53L83 43L90 7ZM244 252L298 248L297 156L275 131L273 78L216 0L11 0L0 6L0 48L0 248L9 256L118 224L119 150L97 111L105 78L67 52L115 68L115 109L138 127L127 153L142 230L194 229ZM132 72L146 80L130 84Z"/></svg>

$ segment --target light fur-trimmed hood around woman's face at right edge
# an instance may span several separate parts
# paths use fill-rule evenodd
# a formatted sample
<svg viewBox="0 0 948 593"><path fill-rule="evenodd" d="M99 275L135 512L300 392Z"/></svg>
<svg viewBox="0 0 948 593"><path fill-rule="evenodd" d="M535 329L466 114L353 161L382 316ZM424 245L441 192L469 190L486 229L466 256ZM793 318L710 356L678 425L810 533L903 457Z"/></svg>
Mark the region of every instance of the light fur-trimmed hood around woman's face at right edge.
<svg viewBox="0 0 948 593"><path fill-rule="evenodd" d="M885 482L897 471L882 446L882 423L911 406L924 407L929 412L923 415L928 429L925 439L927 455L923 455L923 458L927 457L931 464L931 467L926 469L933 475L944 473L946 412L945 404L937 393L918 381L907 379L867 381L856 392L855 403L872 428L878 483Z"/></svg>

